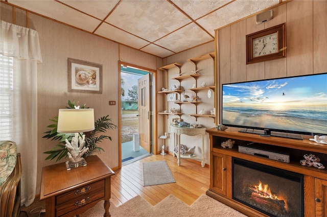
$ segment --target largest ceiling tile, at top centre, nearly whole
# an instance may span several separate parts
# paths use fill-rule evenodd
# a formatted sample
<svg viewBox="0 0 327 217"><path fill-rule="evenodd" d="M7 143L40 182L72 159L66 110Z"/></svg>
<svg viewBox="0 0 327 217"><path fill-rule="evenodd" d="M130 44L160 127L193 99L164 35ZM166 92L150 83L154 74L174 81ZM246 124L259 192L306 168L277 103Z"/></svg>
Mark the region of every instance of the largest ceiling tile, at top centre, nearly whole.
<svg viewBox="0 0 327 217"><path fill-rule="evenodd" d="M168 1L122 1L105 20L150 42L191 20Z"/></svg>

